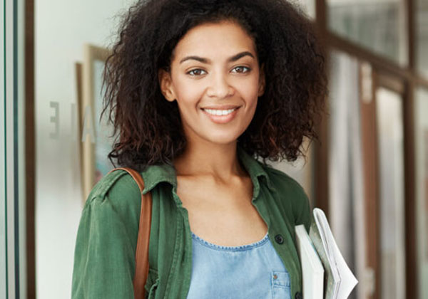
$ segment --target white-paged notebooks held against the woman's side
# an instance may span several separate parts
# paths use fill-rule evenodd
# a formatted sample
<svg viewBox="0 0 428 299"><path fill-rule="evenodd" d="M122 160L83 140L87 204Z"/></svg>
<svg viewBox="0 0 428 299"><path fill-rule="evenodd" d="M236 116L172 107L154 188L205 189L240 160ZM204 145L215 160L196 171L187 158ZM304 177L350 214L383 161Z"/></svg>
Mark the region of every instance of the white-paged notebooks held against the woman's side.
<svg viewBox="0 0 428 299"><path fill-rule="evenodd" d="M346 299L358 280L340 253L327 218L321 209L313 211L307 234L305 226L295 226L303 275L303 298Z"/></svg>

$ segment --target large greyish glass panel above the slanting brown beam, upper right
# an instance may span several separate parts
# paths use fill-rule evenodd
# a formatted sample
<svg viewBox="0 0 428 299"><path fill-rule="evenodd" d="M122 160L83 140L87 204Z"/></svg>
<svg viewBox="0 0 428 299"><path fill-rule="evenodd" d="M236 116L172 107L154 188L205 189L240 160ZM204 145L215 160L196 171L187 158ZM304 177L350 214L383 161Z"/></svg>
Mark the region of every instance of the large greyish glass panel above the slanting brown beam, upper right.
<svg viewBox="0 0 428 299"><path fill-rule="evenodd" d="M331 31L386 56L407 64L407 37L402 0L328 0Z"/></svg>

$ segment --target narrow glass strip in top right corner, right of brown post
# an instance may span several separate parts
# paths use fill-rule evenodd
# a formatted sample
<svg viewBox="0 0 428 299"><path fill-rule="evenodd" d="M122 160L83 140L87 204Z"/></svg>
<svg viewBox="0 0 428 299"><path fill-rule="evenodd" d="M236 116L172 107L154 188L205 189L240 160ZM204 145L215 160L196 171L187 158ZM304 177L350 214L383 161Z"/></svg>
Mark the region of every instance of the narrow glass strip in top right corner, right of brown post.
<svg viewBox="0 0 428 299"><path fill-rule="evenodd" d="M416 65L422 75L428 77L428 0L414 1L416 19Z"/></svg>

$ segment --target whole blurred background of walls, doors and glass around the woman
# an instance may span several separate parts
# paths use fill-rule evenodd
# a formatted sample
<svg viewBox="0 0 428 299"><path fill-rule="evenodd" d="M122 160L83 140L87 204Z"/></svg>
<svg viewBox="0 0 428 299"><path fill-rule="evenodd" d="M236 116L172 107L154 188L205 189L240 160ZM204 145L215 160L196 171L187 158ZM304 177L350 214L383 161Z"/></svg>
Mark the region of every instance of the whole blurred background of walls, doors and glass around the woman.
<svg viewBox="0 0 428 299"><path fill-rule="evenodd" d="M327 48L328 116L275 163L325 211L350 298L428 298L428 0L293 1ZM130 0L3 0L0 298L69 298L78 221L111 165L103 61Z"/></svg>

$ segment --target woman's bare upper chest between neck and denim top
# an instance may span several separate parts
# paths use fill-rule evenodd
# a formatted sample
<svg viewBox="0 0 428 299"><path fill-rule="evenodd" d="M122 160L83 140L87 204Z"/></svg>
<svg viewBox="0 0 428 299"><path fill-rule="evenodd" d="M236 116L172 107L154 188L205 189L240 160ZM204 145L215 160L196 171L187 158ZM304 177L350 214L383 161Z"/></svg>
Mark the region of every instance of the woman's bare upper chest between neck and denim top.
<svg viewBox="0 0 428 299"><path fill-rule="evenodd" d="M190 230L206 241L240 246L259 241L267 232L267 224L252 204L251 185L182 184L178 196L188 211Z"/></svg>

